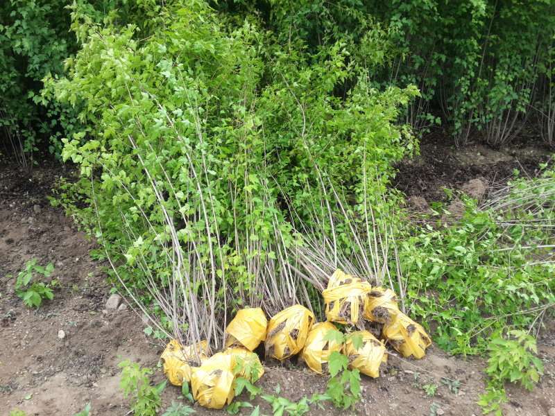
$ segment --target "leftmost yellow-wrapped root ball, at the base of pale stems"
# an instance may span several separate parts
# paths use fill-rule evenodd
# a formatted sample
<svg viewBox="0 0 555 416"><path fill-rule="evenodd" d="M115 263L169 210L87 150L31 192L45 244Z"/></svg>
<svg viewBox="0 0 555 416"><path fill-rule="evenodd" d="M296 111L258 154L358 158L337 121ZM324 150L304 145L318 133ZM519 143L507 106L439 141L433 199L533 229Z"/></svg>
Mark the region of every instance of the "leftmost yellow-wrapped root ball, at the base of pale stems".
<svg viewBox="0 0 555 416"><path fill-rule="evenodd" d="M200 348L197 345L201 365L208 358L205 349L206 341L200 343ZM178 340L171 340L168 343L166 349L162 352L162 356L160 356L160 360L162 360L164 374L173 385L183 385L185 381L189 383L191 381L191 365L198 365L193 346L183 347Z"/></svg>

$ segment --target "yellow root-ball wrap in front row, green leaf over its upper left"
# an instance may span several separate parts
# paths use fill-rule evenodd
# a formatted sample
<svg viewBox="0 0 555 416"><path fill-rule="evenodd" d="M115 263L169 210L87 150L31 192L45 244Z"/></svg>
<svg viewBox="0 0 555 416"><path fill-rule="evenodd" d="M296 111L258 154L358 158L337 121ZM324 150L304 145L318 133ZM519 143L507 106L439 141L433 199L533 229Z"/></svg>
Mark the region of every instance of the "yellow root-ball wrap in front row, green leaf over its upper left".
<svg viewBox="0 0 555 416"><path fill-rule="evenodd" d="M349 358L349 368L358 368L362 374L379 377L379 365L387 361L386 346L368 331L353 332L362 336L362 348L357 351L352 339L345 341L343 354Z"/></svg>

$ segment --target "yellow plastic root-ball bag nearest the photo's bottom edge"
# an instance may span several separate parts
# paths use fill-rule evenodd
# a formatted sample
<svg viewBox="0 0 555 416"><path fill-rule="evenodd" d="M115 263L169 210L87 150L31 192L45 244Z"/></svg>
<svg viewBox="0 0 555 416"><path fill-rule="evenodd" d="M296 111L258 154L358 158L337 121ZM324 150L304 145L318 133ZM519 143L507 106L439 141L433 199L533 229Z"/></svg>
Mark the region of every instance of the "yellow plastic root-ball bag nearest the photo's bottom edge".
<svg viewBox="0 0 555 416"><path fill-rule="evenodd" d="M219 352L191 372L191 390L201 406L221 409L235 397L233 372L236 365L233 354Z"/></svg>

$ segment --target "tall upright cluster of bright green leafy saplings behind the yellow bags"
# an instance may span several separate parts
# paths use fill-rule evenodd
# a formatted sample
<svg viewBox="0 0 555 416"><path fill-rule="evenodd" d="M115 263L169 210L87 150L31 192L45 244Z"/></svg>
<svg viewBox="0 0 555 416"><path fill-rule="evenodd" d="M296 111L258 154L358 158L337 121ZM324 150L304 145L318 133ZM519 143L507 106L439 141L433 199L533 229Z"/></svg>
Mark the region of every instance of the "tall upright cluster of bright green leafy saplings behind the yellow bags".
<svg viewBox="0 0 555 416"><path fill-rule="evenodd" d="M94 124L87 143L85 132L65 140L81 176L60 200L103 243L121 283L160 307L166 288L179 288L182 313L164 310L160 326L189 331L198 316L191 333L210 343L228 298L277 312L290 287L287 302L309 302L288 266L296 228L321 225L325 205L339 218L338 199L368 211L391 162L416 150L395 125L416 89L379 92L346 44L289 50L255 16L236 24L202 1L165 6L141 39L112 17L94 24L78 6L73 16L83 49L48 86L87 103L80 117ZM347 80L348 94L334 96Z"/></svg>

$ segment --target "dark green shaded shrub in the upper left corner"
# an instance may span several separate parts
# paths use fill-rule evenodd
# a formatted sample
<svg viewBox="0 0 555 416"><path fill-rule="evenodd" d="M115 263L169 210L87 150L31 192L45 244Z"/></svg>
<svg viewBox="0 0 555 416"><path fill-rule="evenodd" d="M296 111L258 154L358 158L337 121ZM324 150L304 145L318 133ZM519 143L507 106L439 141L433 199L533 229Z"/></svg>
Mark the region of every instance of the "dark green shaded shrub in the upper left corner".
<svg viewBox="0 0 555 416"><path fill-rule="evenodd" d="M78 108L40 96L45 76L60 76L63 60L78 49L68 32L67 0L9 0L0 5L0 125L20 164L49 139L60 157L61 137L78 131ZM6 143L8 145L8 143Z"/></svg>

